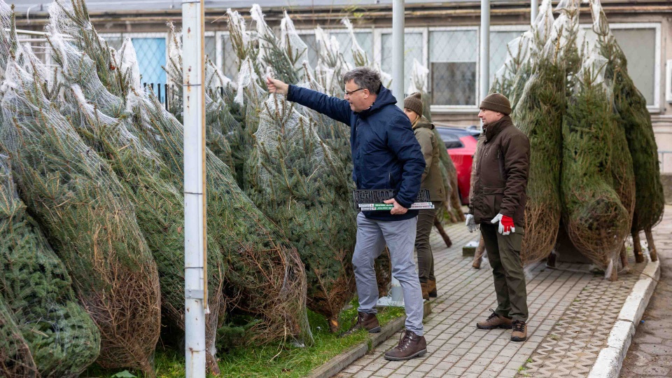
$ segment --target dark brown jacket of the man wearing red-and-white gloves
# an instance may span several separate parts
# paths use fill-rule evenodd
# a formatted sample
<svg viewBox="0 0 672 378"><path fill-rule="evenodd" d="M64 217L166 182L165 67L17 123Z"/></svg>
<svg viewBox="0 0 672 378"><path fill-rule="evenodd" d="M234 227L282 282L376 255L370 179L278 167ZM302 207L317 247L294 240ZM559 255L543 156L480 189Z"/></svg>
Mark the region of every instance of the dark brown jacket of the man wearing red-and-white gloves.
<svg viewBox="0 0 672 378"><path fill-rule="evenodd" d="M474 158L469 213L489 223L501 213L524 226L530 141L509 116L484 126Z"/></svg>

